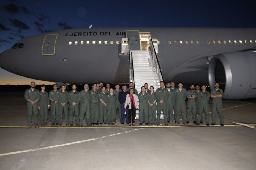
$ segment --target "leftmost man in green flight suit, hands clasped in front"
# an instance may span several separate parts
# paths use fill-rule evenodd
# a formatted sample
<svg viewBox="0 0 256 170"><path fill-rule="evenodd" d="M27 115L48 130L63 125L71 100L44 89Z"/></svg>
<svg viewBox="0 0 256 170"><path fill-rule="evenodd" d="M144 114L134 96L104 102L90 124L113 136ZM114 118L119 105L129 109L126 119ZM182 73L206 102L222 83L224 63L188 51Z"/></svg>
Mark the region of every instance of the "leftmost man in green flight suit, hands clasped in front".
<svg viewBox="0 0 256 170"><path fill-rule="evenodd" d="M34 114L34 125L38 128L38 101L39 101L39 90L35 89L36 83L32 81L30 88L25 91L25 99L27 101L27 112L28 112L28 126L31 128L32 117Z"/></svg>

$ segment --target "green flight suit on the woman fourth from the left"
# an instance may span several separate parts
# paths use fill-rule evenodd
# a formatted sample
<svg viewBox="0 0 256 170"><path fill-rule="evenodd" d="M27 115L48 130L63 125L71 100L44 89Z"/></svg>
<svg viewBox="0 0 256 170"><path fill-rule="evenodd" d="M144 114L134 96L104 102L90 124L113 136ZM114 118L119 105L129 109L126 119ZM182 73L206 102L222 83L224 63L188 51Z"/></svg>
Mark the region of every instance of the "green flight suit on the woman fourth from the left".
<svg viewBox="0 0 256 170"><path fill-rule="evenodd" d="M58 122L59 124L62 124L62 118L63 118L63 111L64 111L64 116L65 116L65 123L69 124L69 115L68 115L68 93L67 91L64 91L64 93L62 91L59 92L59 96L58 96L58 100L59 100L59 117L58 117L58 121L56 118L56 122ZM62 106L61 103L65 103L64 106Z"/></svg>

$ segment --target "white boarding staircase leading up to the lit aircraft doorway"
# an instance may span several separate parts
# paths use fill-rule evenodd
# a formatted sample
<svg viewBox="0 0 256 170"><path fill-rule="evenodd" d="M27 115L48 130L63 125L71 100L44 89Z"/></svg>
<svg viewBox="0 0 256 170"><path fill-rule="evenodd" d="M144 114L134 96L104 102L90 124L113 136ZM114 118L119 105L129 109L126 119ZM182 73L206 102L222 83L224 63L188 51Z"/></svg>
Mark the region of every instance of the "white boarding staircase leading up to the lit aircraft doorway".
<svg viewBox="0 0 256 170"><path fill-rule="evenodd" d="M144 83L148 83L148 89L150 86L154 86L154 91L156 91L160 87L160 81L163 81L163 76L152 39L150 40L148 51L129 50L129 56L130 81L134 82L134 87L138 90L138 93L141 92L141 87L144 86ZM136 118L138 119L138 117L139 111L137 110ZM163 117L163 113L161 113L161 119Z"/></svg>

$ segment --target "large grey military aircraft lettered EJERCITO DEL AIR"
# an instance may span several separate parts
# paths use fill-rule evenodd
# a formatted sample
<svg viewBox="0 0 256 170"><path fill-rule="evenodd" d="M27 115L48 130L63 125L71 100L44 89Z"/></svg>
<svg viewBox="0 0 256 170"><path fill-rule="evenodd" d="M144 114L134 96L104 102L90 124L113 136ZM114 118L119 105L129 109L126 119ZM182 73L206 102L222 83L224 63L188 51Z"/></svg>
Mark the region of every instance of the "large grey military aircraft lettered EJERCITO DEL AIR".
<svg viewBox="0 0 256 170"><path fill-rule="evenodd" d="M129 70L147 69L132 52L151 51L154 61L141 61L157 61L165 82L218 82L225 99L243 99L256 97L255 50L256 28L80 28L21 39L1 53L0 66L45 81L128 83Z"/></svg>

